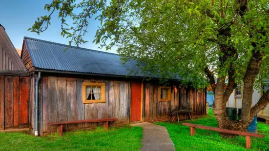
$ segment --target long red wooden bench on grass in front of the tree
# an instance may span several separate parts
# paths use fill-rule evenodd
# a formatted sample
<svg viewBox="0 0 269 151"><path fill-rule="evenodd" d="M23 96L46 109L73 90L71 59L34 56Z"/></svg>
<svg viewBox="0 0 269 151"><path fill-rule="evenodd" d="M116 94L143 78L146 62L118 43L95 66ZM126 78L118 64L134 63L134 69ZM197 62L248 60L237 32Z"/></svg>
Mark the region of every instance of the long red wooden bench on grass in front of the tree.
<svg viewBox="0 0 269 151"><path fill-rule="evenodd" d="M250 145L251 145L250 136L251 137L260 137L260 138L265 137L265 135L251 133L251 132L233 131L233 130L227 130L227 129L221 129L221 128L215 128L215 127L210 127L210 126L203 126L203 125L196 125L196 124L190 124L190 123L182 123L182 125L190 127L190 135L191 136L195 135L195 128L246 136L246 148L247 149L250 149Z"/></svg>

